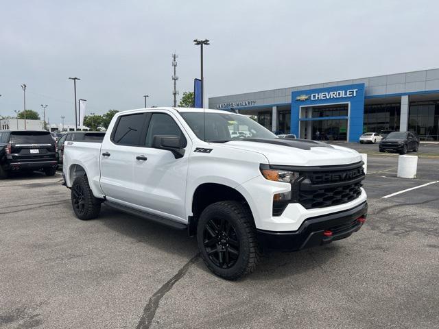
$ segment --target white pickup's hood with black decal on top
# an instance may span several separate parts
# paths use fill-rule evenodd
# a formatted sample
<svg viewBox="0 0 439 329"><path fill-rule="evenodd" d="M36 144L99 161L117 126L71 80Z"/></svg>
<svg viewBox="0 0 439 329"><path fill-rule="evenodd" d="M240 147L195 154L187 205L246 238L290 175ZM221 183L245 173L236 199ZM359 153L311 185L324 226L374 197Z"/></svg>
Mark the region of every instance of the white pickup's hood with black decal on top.
<svg viewBox="0 0 439 329"><path fill-rule="evenodd" d="M228 141L225 147L263 154L270 164L289 166L327 166L350 164L362 160L361 155L346 147L308 140L250 139Z"/></svg>

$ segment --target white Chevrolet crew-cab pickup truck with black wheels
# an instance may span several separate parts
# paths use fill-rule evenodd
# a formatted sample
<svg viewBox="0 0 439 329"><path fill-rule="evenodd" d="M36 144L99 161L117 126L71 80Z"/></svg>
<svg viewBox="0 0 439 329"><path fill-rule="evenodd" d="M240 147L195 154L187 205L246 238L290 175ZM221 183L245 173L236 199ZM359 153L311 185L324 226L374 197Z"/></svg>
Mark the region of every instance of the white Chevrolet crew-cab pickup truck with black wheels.
<svg viewBox="0 0 439 329"><path fill-rule="evenodd" d="M79 219L105 202L187 230L228 280L253 271L263 250L344 239L367 214L357 151L277 138L222 110L119 112L102 143L65 143L63 170Z"/></svg>

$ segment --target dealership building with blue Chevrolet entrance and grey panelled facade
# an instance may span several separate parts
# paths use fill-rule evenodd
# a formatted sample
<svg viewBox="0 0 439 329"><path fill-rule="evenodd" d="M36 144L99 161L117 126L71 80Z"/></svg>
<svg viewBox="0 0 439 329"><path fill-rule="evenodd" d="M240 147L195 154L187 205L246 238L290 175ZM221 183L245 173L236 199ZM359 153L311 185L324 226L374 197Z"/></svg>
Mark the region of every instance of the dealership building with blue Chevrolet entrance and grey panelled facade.
<svg viewBox="0 0 439 329"><path fill-rule="evenodd" d="M357 142L363 132L414 131L439 141L439 69L209 98L278 134Z"/></svg>

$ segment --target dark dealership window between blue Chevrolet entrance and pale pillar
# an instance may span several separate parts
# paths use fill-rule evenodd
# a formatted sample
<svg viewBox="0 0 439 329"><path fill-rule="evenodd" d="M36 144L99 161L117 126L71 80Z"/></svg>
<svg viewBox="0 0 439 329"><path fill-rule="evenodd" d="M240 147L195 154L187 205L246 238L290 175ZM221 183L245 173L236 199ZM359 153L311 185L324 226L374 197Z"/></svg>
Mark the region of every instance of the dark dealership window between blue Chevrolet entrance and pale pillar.
<svg viewBox="0 0 439 329"><path fill-rule="evenodd" d="M381 130L399 131L401 103L366 104L364 106L363 132Z"/></svg>

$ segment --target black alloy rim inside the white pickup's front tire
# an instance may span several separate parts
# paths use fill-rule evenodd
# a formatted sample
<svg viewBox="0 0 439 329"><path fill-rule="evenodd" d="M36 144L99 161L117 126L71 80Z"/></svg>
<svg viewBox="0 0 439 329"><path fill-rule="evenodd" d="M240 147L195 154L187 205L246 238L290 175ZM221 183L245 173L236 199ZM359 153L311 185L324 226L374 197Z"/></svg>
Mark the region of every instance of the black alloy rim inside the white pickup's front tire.
<svg viewBox="0 0 439 329"><path fill-rule="evenodd" d="M227 219L213 218L204 225L203 245L209 259L221 269L230 269L239 257L237 232Z"/></svg>

